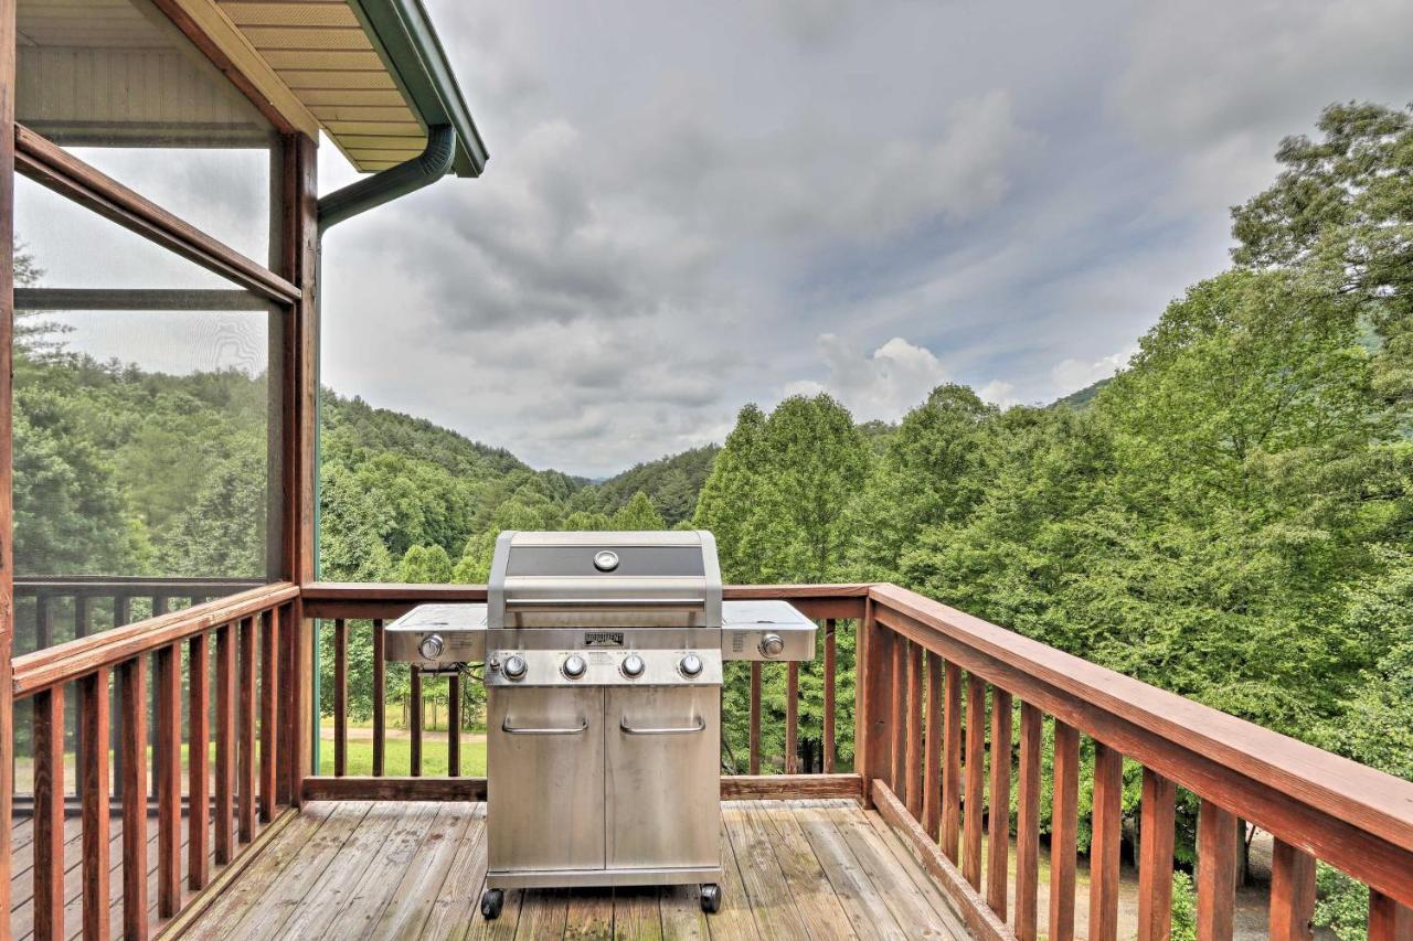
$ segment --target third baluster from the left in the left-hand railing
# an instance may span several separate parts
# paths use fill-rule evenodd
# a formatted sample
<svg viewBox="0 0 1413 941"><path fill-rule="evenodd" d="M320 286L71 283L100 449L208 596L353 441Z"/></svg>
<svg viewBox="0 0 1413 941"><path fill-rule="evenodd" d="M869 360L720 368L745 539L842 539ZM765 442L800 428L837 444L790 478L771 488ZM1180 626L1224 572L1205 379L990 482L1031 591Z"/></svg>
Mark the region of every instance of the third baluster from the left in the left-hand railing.
<svg viewBox="0 0 1413 941"><path fill-rule="evenodd" d="M147 657L117 668L123 716L123 937L147 937Z"/></svg>

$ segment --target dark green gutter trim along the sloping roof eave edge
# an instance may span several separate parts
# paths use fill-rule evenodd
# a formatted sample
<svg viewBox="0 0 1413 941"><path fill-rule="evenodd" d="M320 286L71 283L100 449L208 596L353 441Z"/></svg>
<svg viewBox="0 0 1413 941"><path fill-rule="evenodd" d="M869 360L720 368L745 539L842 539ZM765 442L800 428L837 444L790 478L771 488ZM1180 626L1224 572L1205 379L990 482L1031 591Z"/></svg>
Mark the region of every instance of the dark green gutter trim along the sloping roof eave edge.
<svg viewBox="0 0 1413 941"><path fill-rule="evenodd" d="M449 124L456 131L455 174L479 177L490 155L421 0L349 0L349 7L422 127Z"/></svg>

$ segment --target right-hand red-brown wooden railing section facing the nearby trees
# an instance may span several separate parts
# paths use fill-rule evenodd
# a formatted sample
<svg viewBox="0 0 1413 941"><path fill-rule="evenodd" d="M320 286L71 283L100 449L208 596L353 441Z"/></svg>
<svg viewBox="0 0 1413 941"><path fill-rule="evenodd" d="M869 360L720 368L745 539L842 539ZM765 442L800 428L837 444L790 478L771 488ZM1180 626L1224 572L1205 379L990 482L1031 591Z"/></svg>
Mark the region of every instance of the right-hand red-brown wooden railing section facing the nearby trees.
<svg viewBox="0 0 1413 941"><path fill-rule="evenodd" d="M1041 920L1050 938L1074 937L1081 736L1094 743L1094 941L1118 937L1125 760L1143 766L1140 941L1167 938L1171 925L1177 788L1200 800L1200 938L1232 937L1239 819L1276 841L1272 937L1311 937L1316 859L1369 886L1369 938L1407 941L1413 933L1413 784L894 585L870 589L863 643L858 738L868 798L944 883L978 937L1036 938ZM1013 736L1017 702L1020 730ZM1043 914L1037 882L1047 716L1054 786L1050 906Z"/></svg>

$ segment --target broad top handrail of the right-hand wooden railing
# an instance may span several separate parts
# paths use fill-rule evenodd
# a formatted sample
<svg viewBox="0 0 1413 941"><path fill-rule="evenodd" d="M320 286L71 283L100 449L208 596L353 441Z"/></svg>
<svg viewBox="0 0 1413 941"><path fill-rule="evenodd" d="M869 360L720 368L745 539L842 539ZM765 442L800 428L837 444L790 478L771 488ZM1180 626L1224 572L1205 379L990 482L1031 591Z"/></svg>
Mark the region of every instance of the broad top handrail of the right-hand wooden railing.
<svg viewBox="0 0 1413 941"><path fill-rule="evenodd" d="M1413 783L900 588L880 625L1219 807L1413 904Z"/></svg>

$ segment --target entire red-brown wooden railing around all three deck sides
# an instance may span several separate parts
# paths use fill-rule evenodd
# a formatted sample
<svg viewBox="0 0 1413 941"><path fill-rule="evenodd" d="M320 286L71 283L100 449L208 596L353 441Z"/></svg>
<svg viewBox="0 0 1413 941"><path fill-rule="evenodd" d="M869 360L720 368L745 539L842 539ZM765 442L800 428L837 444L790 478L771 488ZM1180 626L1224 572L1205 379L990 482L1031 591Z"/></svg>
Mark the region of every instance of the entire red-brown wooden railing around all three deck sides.
<svg viewBox="0 0 1413 941"><path fill-rule="evenodd" d="M1119 852L1125 762L1142 766L1137 812L1137 937L1169 937L1177 791L1200 801L1197 921L1201 938L1234 930L1238 821L1275 836L1270 928L1277 938L1310 937L1316 860L1371 889L1369 937L1406 941L1413 931L1413 784L1381 774L1181 697L1071 657L1041 643L893 585L728 588L728 598L781 598L822 623L818 668L827 701L820 728L801 730L800 671L787 664L750 670L750 774L725 774L723 798L858 797L876 808L933 872L983 938L1070 938L1077 933L1078 794L1082 738L1092 743L1092 841L1088 859L1088 935L1119 934ZM391 777L374 757L373 774L348 771L348 649L370 630L374 701L386 692L382 629L418 603L483 600L485 588L456 585L267 585L232 598L79 637L17 657L14 695L32 701L32 903L11 927L62 935L66 909L86 937L106 937L112 894L122 896L123 931L137 937L150 914L167 917L211 863L235 858L280 804L300 798L480 800L486 781ZM335 774L305 773L309 740L297 718L300 643L312 619L332 622L336 716ZM856 690L839 702L838 643L856 630ZM205 665L215 647L212 678ZM185 657L184 649L185 647ZM155 661L153 779L157 810L157 900L148 913L146 747L147 657ZM184 673L184 663L187 664ZM308 670L312 664L302 661ZM191 668L195 664L195 668ZM784 754L764 754L762 687L783 670ZM188 722L182 725L182 677ZM119 745L112 756L120 797L122 865L110 869L109 682L117 698ZM308 677L305 677L308 680ZM65 889L64 698L79 699L78 793L82 810L78 893ZM307 687L307 684L305 684ZM463 691L454 691L454 697ZM853 767L835 767L838 718L853 709ZM212 712L213 706L213 712ZM380 714L380 711L374 711ZM1019 729L1015 728L1019 714ZM376 719L374 715L374 719ZM411 715L418 715L413 709ZM211 719L208 718L211 716ZM215 774L206 747L215 723ZM729 718L728 718L729 721ZM845 716L845 721L848 718ZM1046 746L1050 723L1053 745ZM414 725L413 742L420 729ZM801 735L818 735L818 774L798 774ZM455 738L455 736L454 736ZM380 743L382 740L382 743ZM182 743L189 797L185 852ZM418 747L420 750L420 747ZM1048 756L1046 752L1048 750ZM374 754L386 760L386 729L374 725ZM1048 835L1048 910L1039 910L1043 767L1053 769ZM759 774L779 769L781 774ZM345 773L339 773L345 771ZM208 781L213 801L208 800ZM112 788L117 790L117 788ZM1012 795L1016 821L1012 827ZM208 808L213 807L213 812ZM209 831L209 844L208 841ZM1012 849L1012 846L1015 849ZM1012 865L1012 852L1015 863ZM120 886L120 889L117 889ZM24 918L28 917L28 925ZM23 934L23 931L18 931Z"/></svg>

